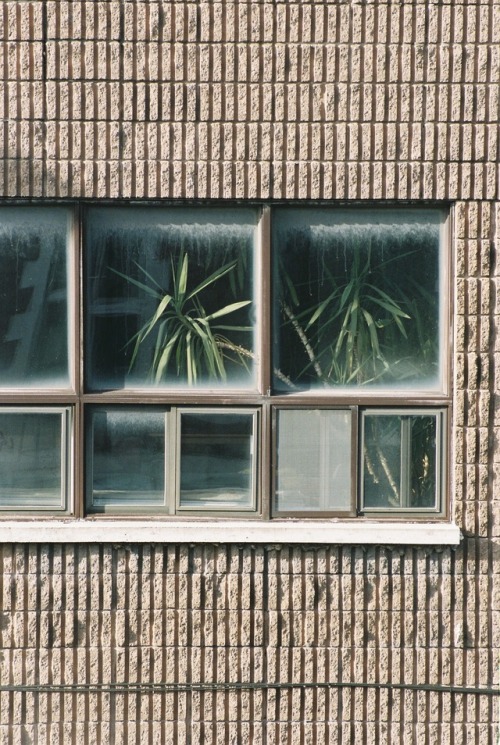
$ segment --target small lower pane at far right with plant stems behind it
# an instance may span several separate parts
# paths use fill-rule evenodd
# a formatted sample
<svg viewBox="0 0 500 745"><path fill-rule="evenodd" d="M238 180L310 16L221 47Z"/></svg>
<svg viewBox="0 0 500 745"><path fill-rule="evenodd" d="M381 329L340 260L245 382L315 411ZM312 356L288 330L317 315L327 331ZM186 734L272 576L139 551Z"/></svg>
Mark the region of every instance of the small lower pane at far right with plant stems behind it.
<svg viewBox="0 0 500 745"><path fill-rule="evenodd" d="M436 510L440 417L363 415L365 510Z"/></svg>

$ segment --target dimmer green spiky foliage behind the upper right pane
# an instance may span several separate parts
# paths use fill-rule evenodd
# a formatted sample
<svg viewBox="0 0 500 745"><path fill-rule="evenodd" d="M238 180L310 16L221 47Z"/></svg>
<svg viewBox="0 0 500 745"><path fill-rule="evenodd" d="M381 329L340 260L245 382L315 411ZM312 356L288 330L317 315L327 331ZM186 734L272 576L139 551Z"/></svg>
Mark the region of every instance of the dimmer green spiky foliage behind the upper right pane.
<svg viewBox="0 0 500 745"><path fill-rule="evenodd" d="M304 288L281 264L283 326L293 330L305 357L292 379L312 377L324 386L366 385L382 378L411 378L418 374L415 360L424 371L432 364L435 333L422 308L431 308L434 298L411 277L398 276L412 253L380 261L370 245L352 241L342 271L334 274L330 266L321 267L323 292L308 307Z"/></svg>

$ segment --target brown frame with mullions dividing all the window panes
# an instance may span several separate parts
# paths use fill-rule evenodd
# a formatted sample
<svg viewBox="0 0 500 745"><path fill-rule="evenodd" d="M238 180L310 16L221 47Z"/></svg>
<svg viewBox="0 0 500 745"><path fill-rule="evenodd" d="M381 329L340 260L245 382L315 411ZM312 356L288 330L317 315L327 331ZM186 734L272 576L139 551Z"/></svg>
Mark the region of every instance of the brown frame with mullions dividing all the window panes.
<svg viewBox="0 0 500 745"><path fill-rule="evenodd" d="M11 203L9 203L11 204ZM31 204L31 203L30 203ZM237 204L216 203L218 206L224 206L231 209ZM300 203L304 206L304 203ZM13 206L23 206L29 209L25 203L12 203ZM45 206L36 204L32 206ZM85 215L87 205L54 205L47 204L47 207L63 207L67 209L71 217L71 229L68 239L68 343L70 346L68 366L70 371L70 385L65 388L44 389L44 388L2 388L0 390L0 404L2 406L63 406L72 407L72 431L71 444L68 450L68 469L71 471L71 486L68 493L66 514L71 517L86 517L101 520L109 517L124 518L127 516L141 515L145 518L151 517L183 517L196 520L197 518L215 517L217 519L238 518L243 520L254 520L257 522L272 519L280 521L282 519L355 519L356 521L369 520L374 517L371 512L369 515L362 511L361 494L360 494L360 475L359 463L355 462L354 456L351 458L352 473L352 509L346 512L325 512L315 511L304 512L277 512L273 509L275 470L276 470L276 436L275 436L275 412L280 409L345 409L356 411L356 417L353 415L352 439L356 441L356 447L359 446L359 411L360 408L376 409L381 407L390 407L398 409L409 409L423 407L425 409L436 410L446 409L448 413L451 410L451 352L452 340L450 330L452 328L452 292L451 292L451 250L450 250L450 221L452 216L450 210L442 204L332 204L325 202L308 203L306 206L310 209L315 207L328 208L335 210L337 207L348 207L350 210L363 210L365 207L371 209L411 209L418 212L419 209L432 209L440 212L442 216L441 235L440 235L440 318L441 327L439 332L440 339L440 359L441 359L441 389L439 391L425 392L419 390L417 393L411 389L398 389L397 391L388 390L361 390L353 387L346 390L331 389L323 391L301 391L291 393L277 393L272 391L272 360L270 350L272 349L272 262L271 262L271 221L274 209L280 209L281 206L293 206L291 203L286 205L266 205L263 203L245 203L245 207L250 207L258 214L257 220L257 239L255 242L256 254L254 258L254 281L256 297L256 313L259 322L256 325L255 354L258 363L255 371L255 389L233 389L227 391L224 388L210 389L190 389L188 387L175 387L171 389L144 389L144 388L127 388L126 390L111 391L87 391L84 388L84 302L86 289L84 286L84 257L83 257L83 231L85 230ZM91 208L106 208L99 202L88 203ZM127 207L142 207L155 209L156 207L168 208L170 206L183 206L196 210L198 205L188 205L185 203L138 203L138 202L114 202L111 206L126 209ZM201 203L200 207L209 208L210 205ZM444 297L441 297L444 296ZM153 511L145 513L144 511L126 510L122 512L106 513L89 513L87 508L87 481L88 465L86 465L89 455L85 438L85 421L86 410L91 406L140 406L145 405L163 405L168 408L189 408L196 409L215 409L220 406L224 410L230 408L246 407L247 409L259 409L259 434L256 438L258 443L256 464L256 484L257 484L257 510L252 513L240 514L237 511L224 513L210 513L205 511L197 512L195 510L177 512L172 514L172 508L167 508L161 512ZM450 475L449 464L451 458L450 449L450 426L451 415L447 416L447 423L443 427L443 473L442 473L442 505L441 510L434 513L431 519L448 520L450 517ZM172 436L170 428L167 427L169 437ZM172 443L168 445L172 449ZM172 497L167 498L167 505L171 502ZM177 490L175 490L175 499L177 500ZM29 514L45 517L46 511L30 510ZM27 514L23 513L23 514ZM405 521L408 519L415 521L424 521L429 519L429 512L421 514L412 510L411 512L385 512L377 514L376 517L387 518L389 520Z"/></svg>

